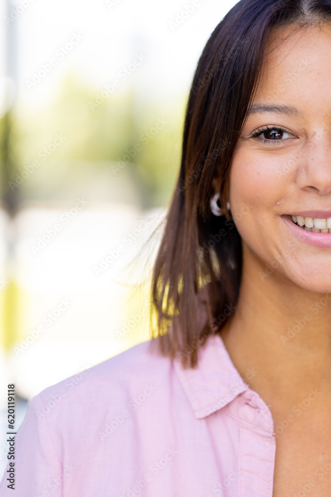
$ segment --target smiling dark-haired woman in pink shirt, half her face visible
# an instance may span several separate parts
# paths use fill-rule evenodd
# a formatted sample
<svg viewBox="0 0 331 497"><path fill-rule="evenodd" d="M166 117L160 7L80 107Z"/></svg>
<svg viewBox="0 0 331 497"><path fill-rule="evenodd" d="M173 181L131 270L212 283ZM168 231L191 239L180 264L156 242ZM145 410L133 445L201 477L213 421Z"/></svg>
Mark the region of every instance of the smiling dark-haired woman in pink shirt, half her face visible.
<svg viewBox="0 0 331 497"><path fill-rule="evenodd" d="M157 331L31 400L16 497L331 495L330 54L331 0L242 0L215 28Z"/></svg>

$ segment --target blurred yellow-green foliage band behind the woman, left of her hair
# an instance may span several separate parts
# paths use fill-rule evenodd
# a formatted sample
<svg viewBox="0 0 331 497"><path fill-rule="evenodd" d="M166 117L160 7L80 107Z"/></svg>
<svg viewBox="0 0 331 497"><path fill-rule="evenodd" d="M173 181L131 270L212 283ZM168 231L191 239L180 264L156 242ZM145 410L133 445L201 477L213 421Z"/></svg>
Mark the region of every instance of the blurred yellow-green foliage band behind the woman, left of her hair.
<svg viewBox="0 0 331 497"><path fill-rule="evenodd" d="M23 200L70 198L71 187L74 191L83 177L81 188L88 196L88 188L100 175L114 197L122 191L123 198L134 189L141 208L169 200L180 166L187 98L156 104L133 84L106 98L101 92L69 73L53 101L42 109L14 106L10 179L15 181L33 161L40 164L19 186ZM157 125L155 134L157 123L163 124Z"/></svg>

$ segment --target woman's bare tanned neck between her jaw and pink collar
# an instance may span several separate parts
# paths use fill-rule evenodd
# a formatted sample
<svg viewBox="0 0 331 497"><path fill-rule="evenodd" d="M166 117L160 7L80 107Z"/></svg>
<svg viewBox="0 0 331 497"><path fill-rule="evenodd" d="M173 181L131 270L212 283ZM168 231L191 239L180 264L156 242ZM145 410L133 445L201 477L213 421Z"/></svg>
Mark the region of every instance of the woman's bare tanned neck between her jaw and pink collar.
<svg viewBox="0 0 331 497"><path fill-rule="evenodd" d="M278 412L302 402L311 389L331 402L331 293L308 291L276 269L266 271L244 246L237 309L220 334L246 383Z"/></svg>

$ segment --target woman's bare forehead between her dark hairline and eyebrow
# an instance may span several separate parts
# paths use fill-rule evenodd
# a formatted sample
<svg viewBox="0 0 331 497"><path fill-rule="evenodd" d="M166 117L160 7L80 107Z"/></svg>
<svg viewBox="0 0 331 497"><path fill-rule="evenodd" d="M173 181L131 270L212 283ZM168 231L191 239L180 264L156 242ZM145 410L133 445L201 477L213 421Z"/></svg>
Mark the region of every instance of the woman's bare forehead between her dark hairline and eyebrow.
<svg viewBox="0 0 331 497"><path fill-rule="evenodd" d="M254 102L328 104L331 111L330 78L331 23L276 28L268 35Z"/></svg>

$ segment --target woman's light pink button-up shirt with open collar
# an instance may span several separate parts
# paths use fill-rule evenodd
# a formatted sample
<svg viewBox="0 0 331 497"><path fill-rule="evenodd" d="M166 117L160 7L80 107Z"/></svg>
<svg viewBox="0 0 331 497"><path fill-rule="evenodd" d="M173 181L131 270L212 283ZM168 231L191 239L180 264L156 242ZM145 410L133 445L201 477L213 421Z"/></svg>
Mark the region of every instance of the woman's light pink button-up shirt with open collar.
<svg viewBox="0 0 331 497"><path fill-rule="evenodd" d="M5 473L1 497L272 497L272 416L221 337L200 349L198 369L148 346L29 402L16 435L15 491Z"/></svg>

